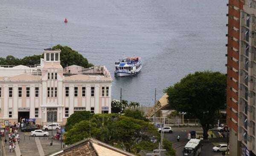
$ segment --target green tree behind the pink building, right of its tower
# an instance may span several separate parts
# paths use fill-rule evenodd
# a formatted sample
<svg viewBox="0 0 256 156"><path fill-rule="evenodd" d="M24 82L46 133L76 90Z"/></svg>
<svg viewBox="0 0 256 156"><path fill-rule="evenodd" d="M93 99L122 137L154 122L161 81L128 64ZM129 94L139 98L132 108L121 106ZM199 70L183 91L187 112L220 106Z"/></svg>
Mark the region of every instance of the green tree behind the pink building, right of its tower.
<svg viewBox="0 0 256 156"><path fill-rule="evenodd" d="M61 49L61 66L65 68L66 66L70 65L78 65L82 66L84 68L89 68L93 66L93 64L89 64L87 61L87 58L84 58L83 55L79 54L79 52L71 49L68 46L61 46L61 45L56 45L53 46L52 49Z"/></svg>

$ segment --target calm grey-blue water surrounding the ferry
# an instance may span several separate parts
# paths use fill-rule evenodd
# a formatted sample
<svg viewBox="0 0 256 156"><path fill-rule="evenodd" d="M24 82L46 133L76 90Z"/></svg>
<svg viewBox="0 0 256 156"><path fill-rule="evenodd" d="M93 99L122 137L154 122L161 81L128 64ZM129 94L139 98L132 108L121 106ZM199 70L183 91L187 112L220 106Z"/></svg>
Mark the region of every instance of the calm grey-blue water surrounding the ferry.
<svg viewBox="0 0 256 156"><path fill-rule="evenodd" d="M203 70L226 72L226 0L0 0L0 57L70 46L105 65L138 55L139 75L113 76L113 98L154 103L163 89ZM69 22L64 24L64 19ZM51 37L52 36L52 37Z"/></svg>

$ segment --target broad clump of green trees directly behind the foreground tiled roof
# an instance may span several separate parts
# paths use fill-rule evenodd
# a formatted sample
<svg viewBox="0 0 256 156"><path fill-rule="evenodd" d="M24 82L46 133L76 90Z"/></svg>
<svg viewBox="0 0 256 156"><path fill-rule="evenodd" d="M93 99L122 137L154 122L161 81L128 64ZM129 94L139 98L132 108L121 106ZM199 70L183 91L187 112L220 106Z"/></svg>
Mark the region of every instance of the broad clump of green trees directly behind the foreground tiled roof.
<svg viewBox="0 0 256 156"><path fill-rule="evenodd" d="M70 117L74 118L74 116ZM133 117L120 114L93 114L89 119L79 120L76 123L75 120L73 121L73 126L68 128L64 134L65 144L73 144L84 138L93 137L122 150L137 154L141 150L156 149L160 142L160 134L153 124ZM66 126L65 129L67 129ZM152 142L153 138L157 142ZM169 156L175 156L175 150L172 149L171 142L164 140L163 146L166 147Z"/></svg>

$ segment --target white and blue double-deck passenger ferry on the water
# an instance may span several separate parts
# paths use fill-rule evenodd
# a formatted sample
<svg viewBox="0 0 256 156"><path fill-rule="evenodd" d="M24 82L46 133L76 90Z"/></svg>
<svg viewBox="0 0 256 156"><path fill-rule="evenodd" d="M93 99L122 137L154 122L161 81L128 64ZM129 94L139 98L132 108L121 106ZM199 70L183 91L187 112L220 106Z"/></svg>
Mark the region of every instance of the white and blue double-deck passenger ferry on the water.
<svg viewBox="0 0 256 156"><path fill-rule="evenodd" d="M115 75L116 76L129 76L136 75L140 72L142 68L142 62L140 57L125 57L119 59L115 65Z"/></svg>

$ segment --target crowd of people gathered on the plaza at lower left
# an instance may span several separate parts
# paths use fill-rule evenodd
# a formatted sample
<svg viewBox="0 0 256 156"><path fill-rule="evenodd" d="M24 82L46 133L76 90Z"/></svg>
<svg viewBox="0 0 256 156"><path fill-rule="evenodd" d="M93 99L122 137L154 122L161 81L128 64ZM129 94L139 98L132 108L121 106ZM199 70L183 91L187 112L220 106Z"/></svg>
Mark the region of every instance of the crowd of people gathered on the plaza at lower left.
<svg viewBox="0 0 256 156"><path fill-rule="evenodd" d="M9 151L15 151L15 144L20 143L20 135L18 133L18 128L20 127L20 122L14 123L13 125L9 122L9 126L6 127L6 135L8 135L9 139ZM5 144L7 144L7 139L4 140Z"/></svg>

